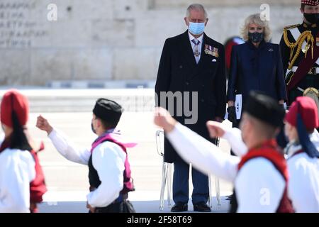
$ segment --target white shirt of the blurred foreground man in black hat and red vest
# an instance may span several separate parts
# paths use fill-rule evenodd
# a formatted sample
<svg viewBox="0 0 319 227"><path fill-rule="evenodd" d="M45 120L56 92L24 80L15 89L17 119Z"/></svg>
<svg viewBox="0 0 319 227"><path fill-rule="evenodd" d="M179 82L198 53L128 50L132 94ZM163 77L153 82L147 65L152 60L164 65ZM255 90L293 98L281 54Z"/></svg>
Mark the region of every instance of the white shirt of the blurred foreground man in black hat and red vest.
<svg viewBox="0 0 319 227"><path fill-rule="evenodd" d="M245 163L238 172L240 157L226 155L180 123L167 133L167 138L177 153L196 169L235 184L237 212L276 212L286 183L272 162L257 157Z"/></svg>

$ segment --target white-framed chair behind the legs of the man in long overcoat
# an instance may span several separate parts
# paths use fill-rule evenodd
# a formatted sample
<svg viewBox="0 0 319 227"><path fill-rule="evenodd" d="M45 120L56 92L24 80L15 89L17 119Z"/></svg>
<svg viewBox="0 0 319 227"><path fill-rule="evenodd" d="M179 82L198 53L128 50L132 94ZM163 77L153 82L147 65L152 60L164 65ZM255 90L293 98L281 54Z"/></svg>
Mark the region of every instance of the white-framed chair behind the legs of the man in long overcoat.
<svg viewBox="0 0 319 227"><path fill-rule="evenodd" d="M218 140L219 143L219 140ZM171 206L171 189L172 189L172 163L164 162L164 132L157 131L156 132L156 146L157 153L162 156L163 164L162 164L162 182L161 182L161 192L159 197L159 209L162 211L164 209L164 192L167 186L167 205ZM208 204L210 207L213 207L211 198L211 176L208 176L208 188L209 188L209 196L208 196ZM215 177L215 188L216 188L216 199L217 204L220 206L220 186L219 179Z"/></svg>

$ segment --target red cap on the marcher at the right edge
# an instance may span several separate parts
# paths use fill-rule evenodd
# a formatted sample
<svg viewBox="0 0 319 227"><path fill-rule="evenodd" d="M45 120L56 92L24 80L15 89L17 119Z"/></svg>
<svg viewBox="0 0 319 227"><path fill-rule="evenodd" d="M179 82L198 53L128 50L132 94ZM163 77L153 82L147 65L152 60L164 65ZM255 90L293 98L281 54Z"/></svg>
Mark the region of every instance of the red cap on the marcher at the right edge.
<svg viewBox="0 0 319 227"><path fill-rule="evenodd" d="M285 120L295 127L297 126L298 111L308 131L318 128L318 108L313 99L307 96L300 96L291 104Z"/></svg>

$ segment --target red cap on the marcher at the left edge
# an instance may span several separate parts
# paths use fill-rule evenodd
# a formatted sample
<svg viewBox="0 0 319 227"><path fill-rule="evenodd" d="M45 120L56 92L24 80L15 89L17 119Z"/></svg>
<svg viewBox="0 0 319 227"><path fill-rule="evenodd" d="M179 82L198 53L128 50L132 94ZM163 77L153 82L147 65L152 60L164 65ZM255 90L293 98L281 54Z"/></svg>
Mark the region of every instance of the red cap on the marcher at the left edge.
<svg viewBox="0 0 319 227"><path fill-rule="evenodd" d="M1 100L1 123L13 127L12 112L16 112L18 121L21 126L26 125L29 114L29 103L26 96L15 89L11 89L4 94Z"/></svg>

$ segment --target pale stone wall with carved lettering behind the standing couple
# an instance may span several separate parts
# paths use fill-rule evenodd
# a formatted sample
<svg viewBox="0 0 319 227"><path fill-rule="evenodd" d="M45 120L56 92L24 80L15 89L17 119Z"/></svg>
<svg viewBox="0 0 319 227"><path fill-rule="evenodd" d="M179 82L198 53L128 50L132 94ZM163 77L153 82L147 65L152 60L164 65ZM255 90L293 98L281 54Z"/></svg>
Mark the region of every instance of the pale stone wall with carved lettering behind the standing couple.
<svg viewBox="0 0 319 227"><path fill-rule="evenodd" d="M156 78L164 40L186 30L189 0L0 0L0 86ZM259 0L201 0L223 43ZM273 42L302 20L299 0L269 0ZM57 20L52 9L57 6Z"/></svg>

